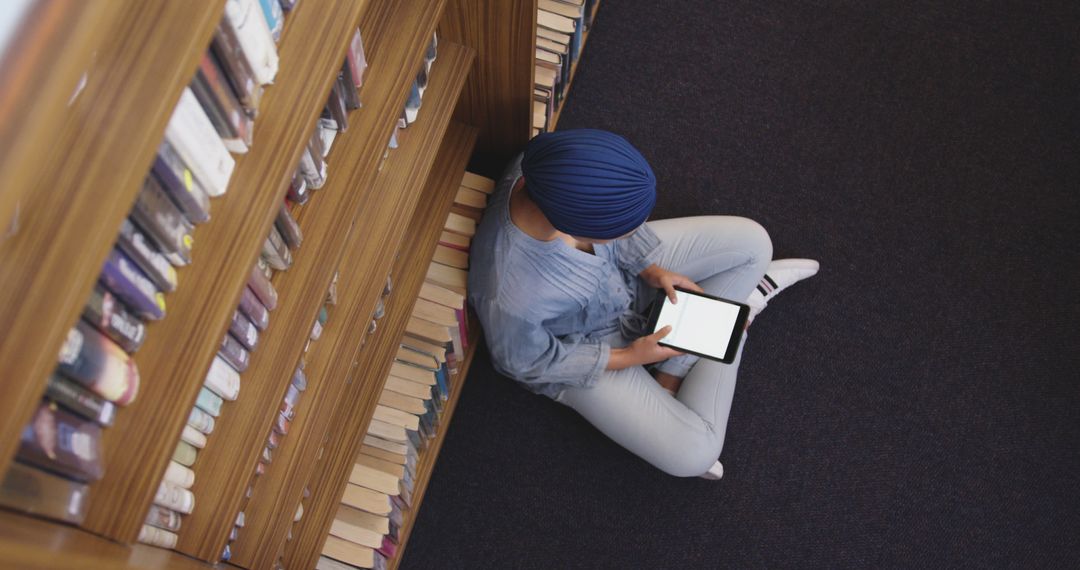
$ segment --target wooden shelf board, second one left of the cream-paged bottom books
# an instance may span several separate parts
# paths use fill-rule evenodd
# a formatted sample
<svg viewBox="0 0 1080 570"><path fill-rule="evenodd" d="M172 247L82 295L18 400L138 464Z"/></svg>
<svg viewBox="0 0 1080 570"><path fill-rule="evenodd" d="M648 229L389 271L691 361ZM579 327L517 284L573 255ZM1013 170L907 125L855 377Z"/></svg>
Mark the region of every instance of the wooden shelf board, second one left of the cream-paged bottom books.
<svg viewBox="0 0 1080 570"><path fill-rule="evenodd" d="M414 54L414 68L419 68L421 55ZM333 411L339 405L351 406L341 393L352 371L352 359L339 356L353 354L365 336L375 302L390 274L396 244L420 200L422 181L435 161L472 60L471 50L448 42L438 45L419 117L408 127L402 145L391 152L375 181L375 191L364 202L346 240L338 306L306 356L308 390L297 406L288 436L274 450L273 463L256 481L245 510L244 530L232 545L230 564L266 568L284 547Z"/></svg>

